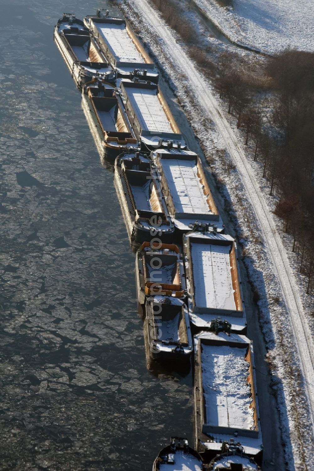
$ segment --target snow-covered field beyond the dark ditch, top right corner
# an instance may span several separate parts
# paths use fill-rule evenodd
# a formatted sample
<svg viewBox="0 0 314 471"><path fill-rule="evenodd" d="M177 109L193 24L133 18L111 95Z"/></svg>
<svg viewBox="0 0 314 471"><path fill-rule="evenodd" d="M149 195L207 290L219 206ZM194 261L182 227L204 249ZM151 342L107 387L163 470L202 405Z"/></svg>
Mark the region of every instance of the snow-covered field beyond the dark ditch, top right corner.
<svg viewBox="0 0 314 471"><path fill-rule="evenodd" d="M231 40L268 54L291 47L314 51L312 0L193 0Z"/></svg>

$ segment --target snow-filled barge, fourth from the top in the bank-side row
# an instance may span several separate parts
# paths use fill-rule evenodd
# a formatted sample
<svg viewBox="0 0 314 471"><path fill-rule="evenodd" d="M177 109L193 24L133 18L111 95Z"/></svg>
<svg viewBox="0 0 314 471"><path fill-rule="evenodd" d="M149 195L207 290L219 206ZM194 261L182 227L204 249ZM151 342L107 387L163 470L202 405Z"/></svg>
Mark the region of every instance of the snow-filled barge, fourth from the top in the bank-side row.
<svg viewBox="0 0 314 471"><path fill-rule="evenodd" d="M246 332L246 316L237 259L230 235L191 232L183 238L186 289L193 330L211 330L217 317L234 333Z"/></svg>

